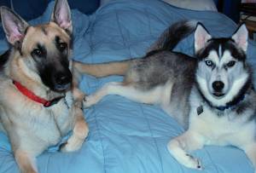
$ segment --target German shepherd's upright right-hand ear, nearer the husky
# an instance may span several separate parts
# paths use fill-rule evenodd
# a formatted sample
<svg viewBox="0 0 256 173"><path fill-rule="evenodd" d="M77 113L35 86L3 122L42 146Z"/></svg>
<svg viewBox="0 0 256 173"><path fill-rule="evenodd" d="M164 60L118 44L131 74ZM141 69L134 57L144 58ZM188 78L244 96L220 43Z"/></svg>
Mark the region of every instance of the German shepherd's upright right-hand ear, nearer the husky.
<svg viewBox="0 0 256 173"><path fill-rule="evenodd" d="M55 8L51 15L51 21L54 21L62 29L72 33L73 26L71 20L71 11L67 0L55 0Z"/></svg>

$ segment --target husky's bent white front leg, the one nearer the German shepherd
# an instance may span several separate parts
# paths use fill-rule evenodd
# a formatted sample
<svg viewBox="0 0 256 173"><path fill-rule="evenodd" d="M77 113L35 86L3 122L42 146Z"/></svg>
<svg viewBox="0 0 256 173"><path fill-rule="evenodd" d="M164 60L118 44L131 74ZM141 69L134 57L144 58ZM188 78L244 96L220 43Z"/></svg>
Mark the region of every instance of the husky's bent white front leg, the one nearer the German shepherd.
<svg viewBox="0 0 256 173"><path fill-rule="evenodd" d="M189 152L200 149L203 144L204 140L201 135L188 130L183 135L172 139L167 147L180 164L192 169L202 170L199 159L195 159Z"/></svg>

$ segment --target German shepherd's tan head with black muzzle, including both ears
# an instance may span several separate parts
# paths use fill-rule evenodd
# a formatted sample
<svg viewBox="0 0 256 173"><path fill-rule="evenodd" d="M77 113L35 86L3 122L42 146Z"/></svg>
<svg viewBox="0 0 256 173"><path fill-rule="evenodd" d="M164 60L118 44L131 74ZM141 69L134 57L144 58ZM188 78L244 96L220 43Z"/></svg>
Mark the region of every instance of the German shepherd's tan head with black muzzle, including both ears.
<svg viewBox="0 0 256 173"><path fill-rule="evenodd" d="M72 73L68 57L72 22L67 1L56 3L51 22L41 26L29 26L9 9L2 10L7 39L19 49L20 61L26 61L24 65L32 70L33 77L55 91L70 89Z"/></svg>

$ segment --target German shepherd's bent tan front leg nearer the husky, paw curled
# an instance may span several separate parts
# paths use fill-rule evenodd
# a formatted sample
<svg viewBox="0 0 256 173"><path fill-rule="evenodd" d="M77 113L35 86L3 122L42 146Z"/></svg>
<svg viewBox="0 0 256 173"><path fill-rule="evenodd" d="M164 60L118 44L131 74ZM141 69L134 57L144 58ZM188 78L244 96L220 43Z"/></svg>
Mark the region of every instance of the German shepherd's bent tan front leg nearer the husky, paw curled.
<svg viewBox="0 0 256 173"><path fill-rule="evenodd" d="M88 136L89 128L84 119L84 112L82 109L82 101L84 93L78 88L73 89L74 102L71 113L74 117L73 135L69 137L67 143L61 147L62 152L72 152L82 147L84 139Z"/></svg>

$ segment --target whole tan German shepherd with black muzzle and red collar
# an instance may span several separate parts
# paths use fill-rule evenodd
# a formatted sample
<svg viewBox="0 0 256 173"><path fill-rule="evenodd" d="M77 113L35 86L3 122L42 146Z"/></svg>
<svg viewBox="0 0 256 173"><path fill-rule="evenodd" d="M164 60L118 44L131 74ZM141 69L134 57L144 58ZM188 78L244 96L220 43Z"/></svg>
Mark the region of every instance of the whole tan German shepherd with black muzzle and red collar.
<svg viewBox="0 0 256 173"><path fill-rule="evenodd" d="M0 129L9 136L21 172L37 172L36 157L73 130L61 151L78 150L88 134L72 53L67 0L56 0L48 24L29 26L1 7L11 49L0 56Z"/></svg>

